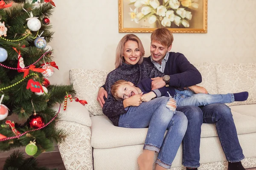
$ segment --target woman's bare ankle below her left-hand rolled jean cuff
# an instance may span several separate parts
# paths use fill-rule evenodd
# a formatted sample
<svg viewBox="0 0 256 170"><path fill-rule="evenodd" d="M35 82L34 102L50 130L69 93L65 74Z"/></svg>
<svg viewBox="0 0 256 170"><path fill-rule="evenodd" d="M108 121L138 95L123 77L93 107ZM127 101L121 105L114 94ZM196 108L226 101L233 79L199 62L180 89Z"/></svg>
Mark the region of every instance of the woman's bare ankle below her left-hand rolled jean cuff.
<svg viewBox="0 0 256 170"><path fill-rule="evenodd" d="M138 158L140 170L153 170L154 151L143 150Z"/></svg>

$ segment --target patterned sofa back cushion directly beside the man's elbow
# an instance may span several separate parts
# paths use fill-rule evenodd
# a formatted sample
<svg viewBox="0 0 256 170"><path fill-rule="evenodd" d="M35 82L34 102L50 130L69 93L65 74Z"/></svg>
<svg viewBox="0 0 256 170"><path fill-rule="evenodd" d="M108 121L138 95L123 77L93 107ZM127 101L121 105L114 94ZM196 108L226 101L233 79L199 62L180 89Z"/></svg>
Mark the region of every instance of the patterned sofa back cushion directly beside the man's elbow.
<svg viewBox="0 0 256 170"><path fill-rule="evenodd" d="M215 64L204 62L195 64L202 75L202 82L198 84L207 89L209 94L218 94Z"/></svg>

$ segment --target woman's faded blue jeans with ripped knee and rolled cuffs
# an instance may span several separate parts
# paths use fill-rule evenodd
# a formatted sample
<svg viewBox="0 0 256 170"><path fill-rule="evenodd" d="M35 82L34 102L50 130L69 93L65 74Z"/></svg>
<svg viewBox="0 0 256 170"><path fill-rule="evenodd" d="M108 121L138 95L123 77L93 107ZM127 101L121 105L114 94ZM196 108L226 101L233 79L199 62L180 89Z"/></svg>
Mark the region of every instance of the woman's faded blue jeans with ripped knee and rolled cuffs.
<svg viewBox="0 0 256 170"><path fill-rule="evenodd" d="M187 128L186 116L166 107L168 101L169 97L159 97L130 106L119 118L119 127L148 127L144 149L159 152L156 163L166 169L171 167Z"/></svg>

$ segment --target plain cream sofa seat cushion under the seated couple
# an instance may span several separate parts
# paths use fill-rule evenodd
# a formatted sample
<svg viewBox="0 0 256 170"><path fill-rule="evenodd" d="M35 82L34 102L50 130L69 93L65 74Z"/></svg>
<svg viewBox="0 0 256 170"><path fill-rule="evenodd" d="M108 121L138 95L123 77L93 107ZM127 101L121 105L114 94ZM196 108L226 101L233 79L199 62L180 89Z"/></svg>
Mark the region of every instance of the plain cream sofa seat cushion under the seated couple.
<svg viewBox="0 0 256 170"><path fill-rule="evenodd" d="M256 108L255 108L256 109ZM256 118L232 111L238 134L256 132ZM144 144L148 128L116 127L106 116L93 116L91 145L94 148L112 148ZM218 136L215 124L204 123L201 138Z"/></svg>

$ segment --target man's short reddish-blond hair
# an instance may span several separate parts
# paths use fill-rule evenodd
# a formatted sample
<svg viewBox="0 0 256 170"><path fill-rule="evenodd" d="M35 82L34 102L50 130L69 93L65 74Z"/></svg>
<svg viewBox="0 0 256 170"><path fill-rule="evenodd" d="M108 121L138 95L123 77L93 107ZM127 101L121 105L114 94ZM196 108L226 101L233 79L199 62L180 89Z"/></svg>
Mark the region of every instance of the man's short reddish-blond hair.
<svg viewBox="0 0 256 170"><path fill-rule="evenodd" d="M173 42L172 32L167 28L157 28L151 34L151 42L152 41L160 42L160 44L169 47Z"/></svg>

